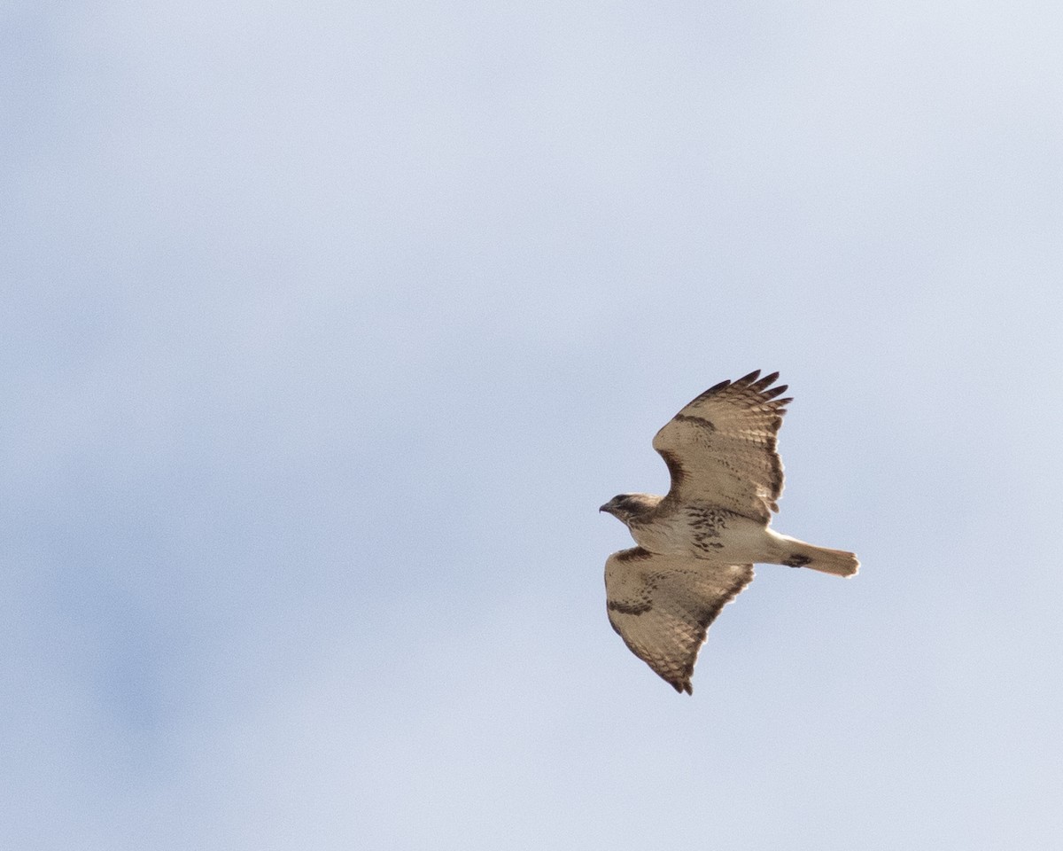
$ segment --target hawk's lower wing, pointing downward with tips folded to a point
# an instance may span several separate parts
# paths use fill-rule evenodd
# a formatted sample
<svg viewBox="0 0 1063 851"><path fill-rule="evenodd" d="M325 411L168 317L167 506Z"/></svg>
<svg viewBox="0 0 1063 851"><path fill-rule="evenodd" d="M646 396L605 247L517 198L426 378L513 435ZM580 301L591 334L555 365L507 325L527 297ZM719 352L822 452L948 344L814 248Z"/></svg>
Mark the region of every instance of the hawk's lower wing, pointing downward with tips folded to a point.
<svg viewBox="0 0 1063 851"><path fill-rule="evenodd" d="M635 655L690 695L709 624L752 580L753 565L621 550L605 563L609 622Z"/></svg>

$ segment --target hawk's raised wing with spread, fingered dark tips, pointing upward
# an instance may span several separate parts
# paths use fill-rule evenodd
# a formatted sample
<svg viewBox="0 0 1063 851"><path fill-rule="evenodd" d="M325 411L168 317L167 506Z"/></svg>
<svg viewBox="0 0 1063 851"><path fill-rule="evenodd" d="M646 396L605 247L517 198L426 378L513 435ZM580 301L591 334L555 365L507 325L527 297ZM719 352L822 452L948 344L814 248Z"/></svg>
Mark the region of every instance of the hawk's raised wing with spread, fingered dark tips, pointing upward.
<svg viewBox="0 0 1063 851"><path fill-rule="evenodd" d="M710 387L657 432L654 449L672 474L667 500L704 500L764 523L779 510L775 435L793 400L776 399L786 384L769 389L778 372L758 376L759 369Z"/></svg>

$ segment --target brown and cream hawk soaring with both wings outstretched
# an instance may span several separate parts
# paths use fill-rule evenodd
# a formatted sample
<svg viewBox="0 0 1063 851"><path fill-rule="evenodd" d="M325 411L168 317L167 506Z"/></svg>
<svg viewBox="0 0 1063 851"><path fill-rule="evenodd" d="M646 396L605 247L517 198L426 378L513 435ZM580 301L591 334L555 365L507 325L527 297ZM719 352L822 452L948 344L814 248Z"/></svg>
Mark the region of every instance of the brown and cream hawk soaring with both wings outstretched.
<svg viewBox="0 0 1063 851"><path fill-rule="evenodd" d="M627 527L638 547L605 563L609 622L676 691L690 679L709 624L753 580L753 565L810 567L851 577L851 552L828 550L769 528L782 493L776 434L787 385L760 370L710 387L654 437L672 486L664 497L621 494L600 511Z"/></svg>

